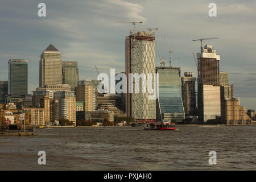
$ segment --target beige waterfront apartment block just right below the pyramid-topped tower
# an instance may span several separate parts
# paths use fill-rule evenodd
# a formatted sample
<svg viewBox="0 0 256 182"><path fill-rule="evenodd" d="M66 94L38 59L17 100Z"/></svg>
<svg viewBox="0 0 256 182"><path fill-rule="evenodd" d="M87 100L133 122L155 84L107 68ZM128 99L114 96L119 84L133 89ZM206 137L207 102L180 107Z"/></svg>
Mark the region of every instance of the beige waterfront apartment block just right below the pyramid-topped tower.
<svg viewBox="0 0 256 182"><path fill-rule="evenodd" d="M53 99L59 101L59 119L68 119L76 126L76 96L72 91L57 91Z"/></svg>

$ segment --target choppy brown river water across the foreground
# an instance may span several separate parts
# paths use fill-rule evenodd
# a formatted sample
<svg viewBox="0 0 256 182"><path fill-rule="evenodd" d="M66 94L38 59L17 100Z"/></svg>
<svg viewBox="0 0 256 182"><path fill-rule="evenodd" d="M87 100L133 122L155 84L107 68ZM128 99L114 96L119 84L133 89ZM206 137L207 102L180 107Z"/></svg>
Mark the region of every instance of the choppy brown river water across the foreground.
<svg viewBox="0 0 256 182"><path fill-rule="evenodd" d="M0 136L1 170L255 170L256 126L36 129ZM46 165L38 152L46 152ZM217 164L209 165L209 151Z"/></svg>

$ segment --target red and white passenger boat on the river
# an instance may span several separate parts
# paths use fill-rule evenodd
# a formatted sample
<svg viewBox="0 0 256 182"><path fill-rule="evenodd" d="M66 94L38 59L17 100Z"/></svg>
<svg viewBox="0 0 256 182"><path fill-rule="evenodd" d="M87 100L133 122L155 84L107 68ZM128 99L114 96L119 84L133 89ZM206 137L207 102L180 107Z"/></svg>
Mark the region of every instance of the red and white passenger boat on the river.
<svg viewBox="0 0 256 182"><path fill-rule="evenodd" d="M144 126L144 130L176 130L177 127L175 123L171 122L153 122L153 123L146 123Z"/></svg>

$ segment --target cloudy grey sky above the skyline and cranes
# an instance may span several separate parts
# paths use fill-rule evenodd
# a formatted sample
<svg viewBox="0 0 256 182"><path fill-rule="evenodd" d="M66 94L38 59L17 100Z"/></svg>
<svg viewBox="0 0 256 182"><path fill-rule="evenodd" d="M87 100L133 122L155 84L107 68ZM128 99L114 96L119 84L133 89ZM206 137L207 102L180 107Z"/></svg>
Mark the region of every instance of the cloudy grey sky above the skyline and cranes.
<svg viewBox="0 0 256 182"><path fill-rule="evenodd" d="M46 3L46 17L38 4ZM217 4L217 17L208 15L209 3ZM49 44L64 61L78 61L80 80L100 72L125 69L125 36L130 22L138 27L158 27L156 42L168 62L167 36L179 58L173 66L196 73L192 52L200 51L197 38L218 37L208 43L221 55L220 69L229 72L230 84L241 105L256 109L256 1L255 0L1 0L0 80L7 80L9 59L29 61L29 91L39 86L40 54ZM159 65L156 55L156 65ZM195 74L197 75L197 74Z"/></svg>

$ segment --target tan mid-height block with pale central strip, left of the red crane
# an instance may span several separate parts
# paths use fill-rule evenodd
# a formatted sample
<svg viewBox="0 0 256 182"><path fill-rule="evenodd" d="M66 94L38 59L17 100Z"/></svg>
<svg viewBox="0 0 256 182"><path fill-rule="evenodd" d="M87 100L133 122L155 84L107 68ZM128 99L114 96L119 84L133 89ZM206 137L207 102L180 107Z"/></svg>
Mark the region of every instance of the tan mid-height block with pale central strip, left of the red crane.
<svg viewBox="0 0 256 182"><path fill-rule="evenodd" d="M84 102L84 111L96 110L96 88L94 81L79 81L76 88L76 101Z"/></svg>

